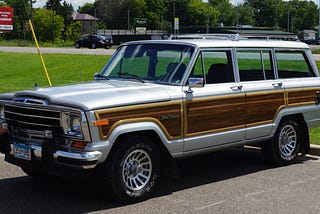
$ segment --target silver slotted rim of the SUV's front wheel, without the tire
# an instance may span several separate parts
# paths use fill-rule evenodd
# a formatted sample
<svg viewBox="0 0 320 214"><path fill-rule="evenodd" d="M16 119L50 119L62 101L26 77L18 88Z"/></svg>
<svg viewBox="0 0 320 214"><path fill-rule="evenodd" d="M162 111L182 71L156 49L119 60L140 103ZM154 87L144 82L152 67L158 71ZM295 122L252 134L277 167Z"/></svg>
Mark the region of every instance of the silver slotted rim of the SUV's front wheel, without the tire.
<svg viewBox="0 0 320 214"><path fill-rule="evenodd" d="M122 179L130 190L141 190L149 182L152 174L152 160L147 152L141 149L132 151L122 167Z"/></svg>

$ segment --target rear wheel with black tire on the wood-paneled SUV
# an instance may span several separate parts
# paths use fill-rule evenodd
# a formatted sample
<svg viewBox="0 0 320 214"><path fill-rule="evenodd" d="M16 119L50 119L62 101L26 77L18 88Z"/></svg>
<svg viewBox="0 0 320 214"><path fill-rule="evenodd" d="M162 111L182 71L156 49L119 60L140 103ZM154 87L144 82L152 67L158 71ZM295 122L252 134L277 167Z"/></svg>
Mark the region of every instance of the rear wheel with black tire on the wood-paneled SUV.
<svg viewBox="0 0 320 214"><path fill-rule="evenodd" d="M298 156L303 133L295 119L283 120L270 142L262 147L266 159L275 165L291 164Z"/></svg>

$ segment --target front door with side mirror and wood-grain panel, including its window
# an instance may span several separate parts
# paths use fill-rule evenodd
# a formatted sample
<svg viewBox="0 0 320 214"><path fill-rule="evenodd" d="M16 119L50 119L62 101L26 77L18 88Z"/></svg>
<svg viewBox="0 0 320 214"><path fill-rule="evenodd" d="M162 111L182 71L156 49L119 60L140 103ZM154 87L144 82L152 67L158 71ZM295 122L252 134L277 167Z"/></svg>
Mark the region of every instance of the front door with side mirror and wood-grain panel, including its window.
<svg viewBox="0 0 320 214"><path fill-rule="evenodd" d="M184 151L240 142L245 134L245 97L235 81L232 50L203 50L190 77L205 85L185 93Z"/></svg>

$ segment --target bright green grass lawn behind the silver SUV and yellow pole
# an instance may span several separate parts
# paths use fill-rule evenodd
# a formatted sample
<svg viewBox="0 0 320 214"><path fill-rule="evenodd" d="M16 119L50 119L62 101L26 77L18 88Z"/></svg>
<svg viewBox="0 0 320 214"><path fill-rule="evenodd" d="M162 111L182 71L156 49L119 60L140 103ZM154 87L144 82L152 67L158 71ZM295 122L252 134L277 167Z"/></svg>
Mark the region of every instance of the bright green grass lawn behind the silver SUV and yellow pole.
<svg viewBox="0 0 320 214"><path fill-rule="evenodd" d="M110 56L44 54L43 58L52 84L61 85L92 80ZM35 83L48 86L38 54L0 52L0 93L30 89ZM310 140L320 145L320 128L310 131Z"/></svg>

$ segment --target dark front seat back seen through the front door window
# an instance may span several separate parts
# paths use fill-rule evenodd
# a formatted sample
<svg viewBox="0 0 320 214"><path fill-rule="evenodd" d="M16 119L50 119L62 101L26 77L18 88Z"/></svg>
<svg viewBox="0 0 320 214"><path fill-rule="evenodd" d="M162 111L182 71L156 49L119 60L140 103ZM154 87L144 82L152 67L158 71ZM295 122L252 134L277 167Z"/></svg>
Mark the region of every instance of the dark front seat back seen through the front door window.
<svg viewBox="0 0 320 214"><path fill-rule="evenodd" d="M208 70L207 83L225 83L234 81L231 69L222 63L212 64Z"/></svg>

